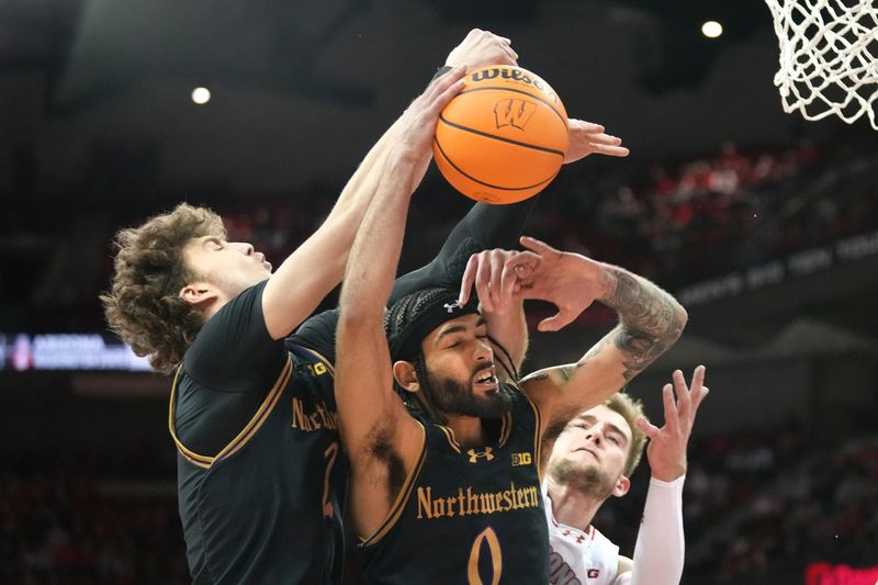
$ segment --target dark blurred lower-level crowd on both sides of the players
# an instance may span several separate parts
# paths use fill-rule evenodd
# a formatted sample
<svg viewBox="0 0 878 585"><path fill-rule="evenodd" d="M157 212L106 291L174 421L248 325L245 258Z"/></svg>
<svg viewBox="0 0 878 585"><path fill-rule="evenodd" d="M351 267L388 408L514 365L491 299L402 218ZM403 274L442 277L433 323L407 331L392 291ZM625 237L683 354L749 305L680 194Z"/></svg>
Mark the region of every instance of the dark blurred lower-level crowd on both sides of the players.
<svg viewBox="0 0 878 585"><path fill-rule="evenodd" d="M801 583L815 562L878 564L878 436L822 449L808 440L788 426L694 441L684 584ZM172 459L44 454L4 468L0 583L188 582ZM648 468L594 520L623 554L633 553Z"/></svg>

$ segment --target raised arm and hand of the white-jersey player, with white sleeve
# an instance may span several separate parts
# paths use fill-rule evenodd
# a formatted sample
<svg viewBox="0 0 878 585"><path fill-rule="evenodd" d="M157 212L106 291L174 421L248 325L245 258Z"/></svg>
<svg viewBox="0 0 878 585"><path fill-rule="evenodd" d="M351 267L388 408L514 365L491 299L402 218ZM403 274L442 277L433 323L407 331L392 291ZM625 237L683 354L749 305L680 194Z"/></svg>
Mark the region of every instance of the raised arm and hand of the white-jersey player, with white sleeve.
<svg viewBox="0 0 878 585"><path fill-rule="evenodd" d="M686 540L683 533L683 482L686 479L686 447L695 415L708 389L705 367L693 373L687 387L683 372L674 372L674 401L671 384L663 389L665 424L657 428L641 418L638 427L650 437L646 459L652 470L650 490L643 507L633 560L619 558L618 585L677 585L683 575ZM630 572L626 575L627 572Z"/></svg>

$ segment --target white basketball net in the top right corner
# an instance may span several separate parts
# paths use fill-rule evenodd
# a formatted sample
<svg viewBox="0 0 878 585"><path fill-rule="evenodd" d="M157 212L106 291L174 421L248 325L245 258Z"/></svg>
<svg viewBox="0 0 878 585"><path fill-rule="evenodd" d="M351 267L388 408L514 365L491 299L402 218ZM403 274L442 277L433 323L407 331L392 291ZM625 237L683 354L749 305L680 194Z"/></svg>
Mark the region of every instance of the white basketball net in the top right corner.
<svg viewBox="0 0 878 585"><path fill-rule="evenodd" d="M878 130L878 1L765 0L780 44L784 111L807 120L864 113Z"/></svg>

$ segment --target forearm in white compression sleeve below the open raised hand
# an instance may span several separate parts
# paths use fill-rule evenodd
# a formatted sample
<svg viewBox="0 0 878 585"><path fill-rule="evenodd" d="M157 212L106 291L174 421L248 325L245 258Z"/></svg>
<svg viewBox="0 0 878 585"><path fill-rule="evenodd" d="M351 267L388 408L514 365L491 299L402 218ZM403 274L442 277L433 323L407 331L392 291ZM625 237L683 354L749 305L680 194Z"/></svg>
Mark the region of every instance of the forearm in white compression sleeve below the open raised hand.
<svg viewBox="0 0 878 585"><path fill-rule="evenodd" d="M653 477L634 545L631 585L677 585L683 575L686 540L683 532L683 483Z"/></svg>

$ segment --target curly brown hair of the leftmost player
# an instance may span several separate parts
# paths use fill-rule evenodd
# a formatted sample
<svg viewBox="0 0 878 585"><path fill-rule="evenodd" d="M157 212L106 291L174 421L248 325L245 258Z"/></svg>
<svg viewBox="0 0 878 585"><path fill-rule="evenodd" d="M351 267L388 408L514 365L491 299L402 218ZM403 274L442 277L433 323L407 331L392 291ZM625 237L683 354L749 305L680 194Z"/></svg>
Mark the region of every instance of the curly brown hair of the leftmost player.
<svg viewBox="0 0 878 585"><path fill-rule="evenodd" d="M195 280L184 263L183 247L192 238L225 237L223 220L213 211L181 203L172 212L149 218L139 227L122 229L114 246L112 288L101 294L110 328L137 356L168 373L183 359L203 322L180 297L180 289Z"/></svg>

